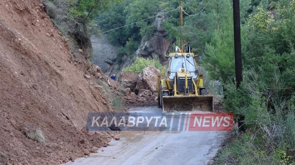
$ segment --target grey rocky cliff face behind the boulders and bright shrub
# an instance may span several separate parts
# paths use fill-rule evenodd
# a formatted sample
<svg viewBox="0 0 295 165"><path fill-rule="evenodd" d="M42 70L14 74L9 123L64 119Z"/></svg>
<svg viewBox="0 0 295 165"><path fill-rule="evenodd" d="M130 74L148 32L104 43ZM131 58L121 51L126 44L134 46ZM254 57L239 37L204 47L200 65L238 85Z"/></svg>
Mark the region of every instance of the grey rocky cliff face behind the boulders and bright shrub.
<svg viewBox="0 0 295 165"><path fill-rule="evenodd" d="M136 50L134 57L144 57L149 59L159 58L160 63L166 64L167 59L165 55L172 50L173 41L167 40L168 33L162 26L162 21L165 21L166 16L160 15L156 17L154 24L157 27L157 31L152 37L143 37L140 46ZM104 74L109 75L110 73L118 73L122 68L130 65L135 58L128 59L116 66L114 62L116 61L117 55L119 54L118 46L114 46L107 40L107 35L103 36L92 36L91 43L93 48L94 64L98 65Z"/></svg>

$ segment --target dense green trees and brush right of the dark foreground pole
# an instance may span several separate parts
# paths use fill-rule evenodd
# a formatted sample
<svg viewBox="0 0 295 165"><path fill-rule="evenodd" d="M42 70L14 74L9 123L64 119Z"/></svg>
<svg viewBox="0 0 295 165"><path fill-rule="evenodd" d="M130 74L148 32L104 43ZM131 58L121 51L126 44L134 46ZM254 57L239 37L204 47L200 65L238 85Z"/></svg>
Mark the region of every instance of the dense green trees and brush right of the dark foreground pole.
<svg viewBox="0 0 295 165"><path fill-rule="evenodd" d="M295 163L294 18L295 1L279 1L245 23L244 80L239 90L227 85L224 103L245 116L247 131L221 152L220 164Z"/></svg>

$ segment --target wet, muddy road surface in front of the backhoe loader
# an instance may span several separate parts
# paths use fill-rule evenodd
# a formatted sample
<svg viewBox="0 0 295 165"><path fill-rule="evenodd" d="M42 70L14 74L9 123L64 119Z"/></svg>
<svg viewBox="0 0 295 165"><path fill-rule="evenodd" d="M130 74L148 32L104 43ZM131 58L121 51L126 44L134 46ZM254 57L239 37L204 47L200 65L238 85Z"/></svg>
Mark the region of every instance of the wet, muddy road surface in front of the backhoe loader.
<svg viewBox="0 0 295 165"><path fill-rule="evenodd" d="M160 108L132 109L133 112L161 112ZM225 139L225 132L131 132L122 131L120 140L112 140L87 158L66 165L110 164L208 164Z"/></svg>

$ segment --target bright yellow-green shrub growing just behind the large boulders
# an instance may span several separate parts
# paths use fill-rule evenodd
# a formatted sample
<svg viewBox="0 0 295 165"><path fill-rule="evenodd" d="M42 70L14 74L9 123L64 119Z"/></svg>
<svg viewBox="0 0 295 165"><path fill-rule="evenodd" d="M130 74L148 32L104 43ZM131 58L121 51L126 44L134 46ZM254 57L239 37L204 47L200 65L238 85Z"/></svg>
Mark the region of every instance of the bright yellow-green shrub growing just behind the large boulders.
<svg viewBox="0 0 295 165"><path fill-rule="evenodd" d="M159 60L157 58L150 60L150 59L145 59L142 57L136 57L135 61L127 68L124 68L122 70L122 72L129 71L131 73L139 74L142 71L142 69L144 69L150 65L153 65L155 68L160 70L162 74L165 73L165 67L163 65L161 65L161 63L159 62Z"/></svg>

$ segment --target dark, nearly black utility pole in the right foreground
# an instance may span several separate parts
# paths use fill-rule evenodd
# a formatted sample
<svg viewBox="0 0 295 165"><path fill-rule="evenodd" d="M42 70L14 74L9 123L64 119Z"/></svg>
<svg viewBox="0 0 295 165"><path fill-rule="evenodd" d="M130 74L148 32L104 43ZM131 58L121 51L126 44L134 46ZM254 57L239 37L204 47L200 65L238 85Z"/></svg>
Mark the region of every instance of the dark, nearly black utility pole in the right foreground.
<svg viewBox="0 0 295 165"><path fill-rule="evenodd" d="M241 26L240 26L240 0L232 0L234 13L234 41L235 41L235 69L236 85L240 87L242 77L242 48L241 48Z"/></svg>

